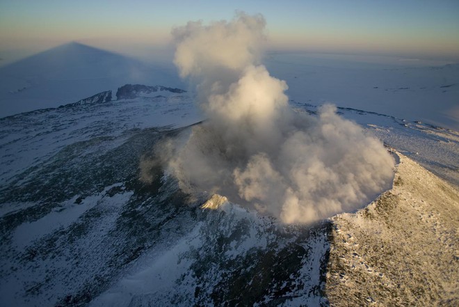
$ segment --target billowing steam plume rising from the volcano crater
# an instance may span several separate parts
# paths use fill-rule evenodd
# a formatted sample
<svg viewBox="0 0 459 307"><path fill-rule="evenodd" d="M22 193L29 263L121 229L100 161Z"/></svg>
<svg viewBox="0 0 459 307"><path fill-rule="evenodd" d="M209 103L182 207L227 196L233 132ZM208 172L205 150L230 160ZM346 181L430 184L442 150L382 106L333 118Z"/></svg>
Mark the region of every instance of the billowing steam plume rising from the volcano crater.
<svg viewBox="0 0 459 307"><path fill-rule="evenodd" d="M261 15L188 22L172 31L180 76L195 84L207 116L161 148L188 193L218 193L284 223L308 223L362 207L390 187L394 159L341 118L291 109L285 81L261 65Z"/></svg>

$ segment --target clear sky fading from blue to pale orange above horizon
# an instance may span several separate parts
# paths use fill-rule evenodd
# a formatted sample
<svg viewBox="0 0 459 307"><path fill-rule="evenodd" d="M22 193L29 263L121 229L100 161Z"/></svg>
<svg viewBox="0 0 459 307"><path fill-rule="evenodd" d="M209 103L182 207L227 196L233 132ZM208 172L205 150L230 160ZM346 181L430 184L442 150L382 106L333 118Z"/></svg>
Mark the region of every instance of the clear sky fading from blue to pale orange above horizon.
<svg viewBox="0 0 459 307"><path fill-rule="evenodd" d="M264 15L270 49L459 61L458 0L0 0L0 63L70 41L140 55L236 10Z"/></svg>

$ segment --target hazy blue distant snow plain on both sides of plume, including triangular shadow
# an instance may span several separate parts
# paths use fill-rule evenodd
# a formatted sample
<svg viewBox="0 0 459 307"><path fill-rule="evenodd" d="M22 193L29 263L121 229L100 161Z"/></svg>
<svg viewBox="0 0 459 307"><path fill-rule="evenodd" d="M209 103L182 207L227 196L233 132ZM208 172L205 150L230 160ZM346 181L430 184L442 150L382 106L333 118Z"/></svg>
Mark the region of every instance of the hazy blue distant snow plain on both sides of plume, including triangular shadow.
<svg viewBox="0 0 459 307"><path fill-rule="evenodd" d="M152 55L154 58L154 55ZM291 100L331 102L459 130L459 64L391 56L271 52ZM76 102L124 84L186 88L170 63L70 43L0 68L0 117Z"/></svg>

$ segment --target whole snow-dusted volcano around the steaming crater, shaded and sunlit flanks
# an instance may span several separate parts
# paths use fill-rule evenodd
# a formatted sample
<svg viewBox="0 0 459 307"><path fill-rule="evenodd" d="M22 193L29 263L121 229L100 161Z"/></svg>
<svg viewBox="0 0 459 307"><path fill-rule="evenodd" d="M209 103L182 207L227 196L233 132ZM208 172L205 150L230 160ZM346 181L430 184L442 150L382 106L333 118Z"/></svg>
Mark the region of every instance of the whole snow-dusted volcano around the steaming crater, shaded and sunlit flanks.
<svg viewBox="0 0 459 307"><path fill-rule="evenodd" d="M410 158L366 209L285 226L218 196L202 207L160 164L139 180L154 145L203 119L167 92L0 119L0 306L456 304L458 191L410 158L448 178L457 132L339 109Z"/></svg>

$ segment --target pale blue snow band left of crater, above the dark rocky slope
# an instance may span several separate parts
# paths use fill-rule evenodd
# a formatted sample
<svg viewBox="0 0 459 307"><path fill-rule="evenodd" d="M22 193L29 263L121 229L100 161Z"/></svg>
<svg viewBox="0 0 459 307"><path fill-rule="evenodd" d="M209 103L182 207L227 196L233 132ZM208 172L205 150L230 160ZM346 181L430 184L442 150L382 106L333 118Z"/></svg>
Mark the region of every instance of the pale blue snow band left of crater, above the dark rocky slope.
<svg viewBox="0 0 459 307"><path fill-rule="evenodd" d="M65 158L70 154L89 155L89 150L116 148L149 127L184 127L202 119L191 97L183 93L168 96L70 104L0 118L0 182L9 182L13 176L33 169L59 152ZM97 143L99 148L81 152L78 148L84 146L77 146L79 142ZM77 149L65 151L72 144Z"/></svg>

